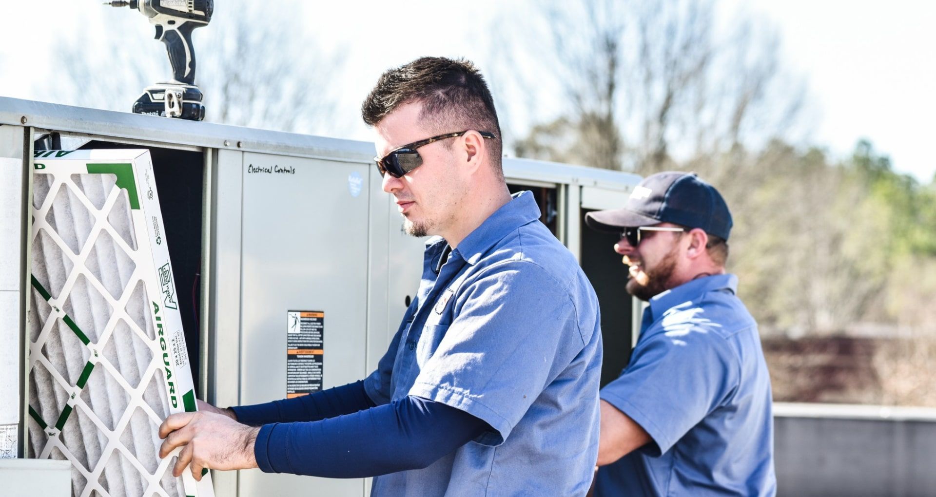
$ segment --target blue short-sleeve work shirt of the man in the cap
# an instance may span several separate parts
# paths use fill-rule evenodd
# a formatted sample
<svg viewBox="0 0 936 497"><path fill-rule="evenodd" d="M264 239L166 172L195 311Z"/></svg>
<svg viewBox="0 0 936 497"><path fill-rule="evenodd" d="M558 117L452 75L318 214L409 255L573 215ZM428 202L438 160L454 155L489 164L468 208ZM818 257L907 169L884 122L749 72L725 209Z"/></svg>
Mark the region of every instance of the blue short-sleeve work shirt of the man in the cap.
<svg viewBox="0 0 936 497"><path fill-rule="evenodd" d="M651 299L601 398L652 442L599 468L595 495L776 494L770 378L737 287L717 274Z"/></svg>

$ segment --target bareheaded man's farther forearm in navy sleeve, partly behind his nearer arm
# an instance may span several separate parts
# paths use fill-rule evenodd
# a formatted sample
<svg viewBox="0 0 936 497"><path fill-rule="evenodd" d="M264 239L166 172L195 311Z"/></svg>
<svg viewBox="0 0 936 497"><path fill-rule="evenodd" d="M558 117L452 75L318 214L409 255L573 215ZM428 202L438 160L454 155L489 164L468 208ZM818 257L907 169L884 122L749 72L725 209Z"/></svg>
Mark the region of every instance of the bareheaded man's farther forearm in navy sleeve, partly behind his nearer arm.
<svg viewBox="0 0 936 497"><path fill-rule="evenodd" d="M243 424L259 426L268 423L317 421L358 412L374 406L364 390L364 382L349 383L293 399L241 405L230 410Z"/></svg>

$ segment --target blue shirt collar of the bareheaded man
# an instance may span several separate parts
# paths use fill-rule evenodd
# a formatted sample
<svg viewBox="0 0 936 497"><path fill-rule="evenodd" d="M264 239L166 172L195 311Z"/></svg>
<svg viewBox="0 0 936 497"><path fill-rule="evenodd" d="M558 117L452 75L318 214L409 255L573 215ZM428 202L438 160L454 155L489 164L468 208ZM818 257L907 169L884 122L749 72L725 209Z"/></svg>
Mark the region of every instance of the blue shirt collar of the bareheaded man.
<svg viewBox="0 0 936 497"><path fill-rule="evenodd" d="M511 197L509 202L469 233L452 254L458 253L468 264L475 265L494 243L503 240L518 227L539 219L539 206L536 205L533 193L523 191Z"/></svg>

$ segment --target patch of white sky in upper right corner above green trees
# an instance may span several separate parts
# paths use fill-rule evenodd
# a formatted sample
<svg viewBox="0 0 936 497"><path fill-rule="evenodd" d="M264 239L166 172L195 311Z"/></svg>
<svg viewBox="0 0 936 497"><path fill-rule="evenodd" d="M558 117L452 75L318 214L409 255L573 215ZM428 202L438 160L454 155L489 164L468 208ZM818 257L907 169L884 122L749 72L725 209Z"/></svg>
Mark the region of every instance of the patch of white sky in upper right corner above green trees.
<svg viewBox="0 0 936 497"><path fill-rule="evenodd" d="M936 2L748 0L775 22L784 62L808 81L813 139L850 153L867 138L894 168L929 183L936 173Z"/></svg>

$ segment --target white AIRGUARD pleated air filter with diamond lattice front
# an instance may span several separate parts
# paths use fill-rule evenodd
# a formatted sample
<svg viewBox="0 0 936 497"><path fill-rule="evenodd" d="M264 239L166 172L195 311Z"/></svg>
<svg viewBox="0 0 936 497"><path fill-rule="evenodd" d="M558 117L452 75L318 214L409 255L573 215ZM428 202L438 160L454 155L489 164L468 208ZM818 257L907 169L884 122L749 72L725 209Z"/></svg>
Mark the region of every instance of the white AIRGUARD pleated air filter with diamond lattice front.
<svg viewBox="0 0 936 497"><path fill-rule="evenodd" d="M71 461L76 496L212 496L158 457L196 396L149 151L41 151L34 173L31 457Z"/></svg>

